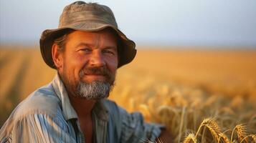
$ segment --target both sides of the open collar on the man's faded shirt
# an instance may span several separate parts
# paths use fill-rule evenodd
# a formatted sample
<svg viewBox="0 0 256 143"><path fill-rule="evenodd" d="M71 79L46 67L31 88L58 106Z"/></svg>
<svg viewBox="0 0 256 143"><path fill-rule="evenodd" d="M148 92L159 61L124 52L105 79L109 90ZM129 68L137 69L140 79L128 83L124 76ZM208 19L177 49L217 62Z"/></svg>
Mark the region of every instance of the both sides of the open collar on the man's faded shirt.
<svg viewBox="0 0 256 143"><path fill-rule="evenodd" d="M72 107L70 103L70 99L67 94L67 90L65 89L65 86L60 79L59 74L56 74L52 81L52 87L54 88L54 91L56 92L57 96L60 98L60 101L62 103L62 112L65 117L65 120L69 119L77 119L77 113L75 112L75 109ZM93 113L99 118L103 119L105 121L108 121L108 109L104 105L105 99L100 99L98 102L95 103L93 107Z"/></svg>

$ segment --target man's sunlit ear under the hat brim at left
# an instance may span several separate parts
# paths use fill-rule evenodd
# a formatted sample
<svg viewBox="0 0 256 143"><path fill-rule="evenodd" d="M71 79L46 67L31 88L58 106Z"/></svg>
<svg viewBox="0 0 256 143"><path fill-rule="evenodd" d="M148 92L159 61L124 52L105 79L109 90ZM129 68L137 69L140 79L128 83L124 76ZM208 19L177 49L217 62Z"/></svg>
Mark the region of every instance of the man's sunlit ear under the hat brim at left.
<svg viewBox="0 0 256 143"><path fill-rule="evenodd" d="M55 43L52 44L52 59L57 69L60 69L62 67L63 59L62 59L62 53L60 53L60 51L58 51L57 49L58 49L58 45Z"/></svg>

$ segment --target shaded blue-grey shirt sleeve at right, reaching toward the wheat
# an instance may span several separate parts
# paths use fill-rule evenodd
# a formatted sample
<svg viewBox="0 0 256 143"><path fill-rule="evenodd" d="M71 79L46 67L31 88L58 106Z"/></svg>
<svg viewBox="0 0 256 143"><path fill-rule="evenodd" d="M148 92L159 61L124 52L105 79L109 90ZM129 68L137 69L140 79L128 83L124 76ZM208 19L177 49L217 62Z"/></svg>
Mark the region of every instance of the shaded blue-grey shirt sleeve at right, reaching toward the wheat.
<svg viewBox="0 0 256 143"><path fill-rule="evenodd" d="M149 124L143 121L139 112L129 114L125 109L120 108L122 119L121 142L155 142L164 128L161 124Z"/></svg>

